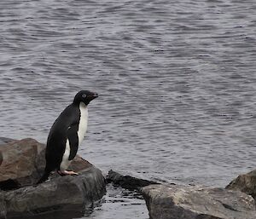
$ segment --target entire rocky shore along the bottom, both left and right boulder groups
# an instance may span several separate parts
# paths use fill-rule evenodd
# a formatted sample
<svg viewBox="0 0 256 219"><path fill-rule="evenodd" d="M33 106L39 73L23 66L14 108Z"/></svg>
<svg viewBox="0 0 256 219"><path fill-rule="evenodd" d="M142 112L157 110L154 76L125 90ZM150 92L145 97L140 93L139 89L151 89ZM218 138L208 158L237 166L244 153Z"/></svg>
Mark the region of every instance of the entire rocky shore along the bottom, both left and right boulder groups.
<svg viewBox="0 0 256 219"><path fill-rule="evenodd" d="M84 215L101 203L106 182L143 195L150 219L255 219L256 170L225 188L160 184L113 170L106 180L78 155L71 169L79 176L53 174L35 186L44 170L44 144L0 138L0 219L63 218Z"/></svg>

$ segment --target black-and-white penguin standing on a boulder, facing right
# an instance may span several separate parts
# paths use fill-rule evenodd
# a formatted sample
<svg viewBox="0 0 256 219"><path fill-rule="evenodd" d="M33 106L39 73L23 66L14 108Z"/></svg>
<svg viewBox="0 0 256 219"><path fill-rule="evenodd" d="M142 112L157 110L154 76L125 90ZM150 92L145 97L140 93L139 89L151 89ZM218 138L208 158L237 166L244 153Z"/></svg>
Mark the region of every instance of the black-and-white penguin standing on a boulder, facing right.
<svg viewBox="0 0 256 219"><path fill-rule="evenodd" d="M51 171L61 176L78 175L67 168L78 152L87 130L88 104L98 97L96 93L81 90L52 125L46 145L44 175L37 184L48 180Z"/></svg>

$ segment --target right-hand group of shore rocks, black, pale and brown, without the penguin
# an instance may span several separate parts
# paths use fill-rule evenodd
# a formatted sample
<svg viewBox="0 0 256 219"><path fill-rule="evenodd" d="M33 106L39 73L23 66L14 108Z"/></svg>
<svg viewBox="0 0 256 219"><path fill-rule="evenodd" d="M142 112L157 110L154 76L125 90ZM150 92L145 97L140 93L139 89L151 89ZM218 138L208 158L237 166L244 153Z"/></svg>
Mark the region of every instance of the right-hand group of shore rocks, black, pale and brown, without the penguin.
<svg viewBox="0 0 256 219"><path fill-rule="evenodd" d="M122 176L113 170L107 180L142 193L150 219L256 218L256 170L238 176L226 188L159 184Z"/></svg>

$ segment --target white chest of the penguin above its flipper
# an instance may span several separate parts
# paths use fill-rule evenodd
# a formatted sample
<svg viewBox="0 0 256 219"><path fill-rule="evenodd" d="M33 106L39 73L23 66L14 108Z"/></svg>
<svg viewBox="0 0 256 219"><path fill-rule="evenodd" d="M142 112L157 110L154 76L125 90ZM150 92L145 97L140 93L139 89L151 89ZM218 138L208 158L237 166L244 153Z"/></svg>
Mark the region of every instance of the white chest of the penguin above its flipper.
<svg viewBox="0 0 256 219"><path fill-rule="evenodd" d="M79 121L79 144L83 141L88 124L88 108L85 106L83 102L79 105L80 109L80 121Z"/></svg>

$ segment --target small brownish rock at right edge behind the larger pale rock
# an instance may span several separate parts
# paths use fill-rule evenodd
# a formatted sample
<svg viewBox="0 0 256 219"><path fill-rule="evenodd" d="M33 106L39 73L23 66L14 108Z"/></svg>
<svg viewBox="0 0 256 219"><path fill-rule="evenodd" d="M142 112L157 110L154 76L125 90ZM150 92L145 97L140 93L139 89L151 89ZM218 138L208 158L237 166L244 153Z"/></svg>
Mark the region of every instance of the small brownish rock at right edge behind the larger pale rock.
<svg viewBox="0 0 256 219"><path fill-rule="evenodd" d="M256 170L238 176L226 188L247 193L252 195L253 199L256 199Z"/></svg>

